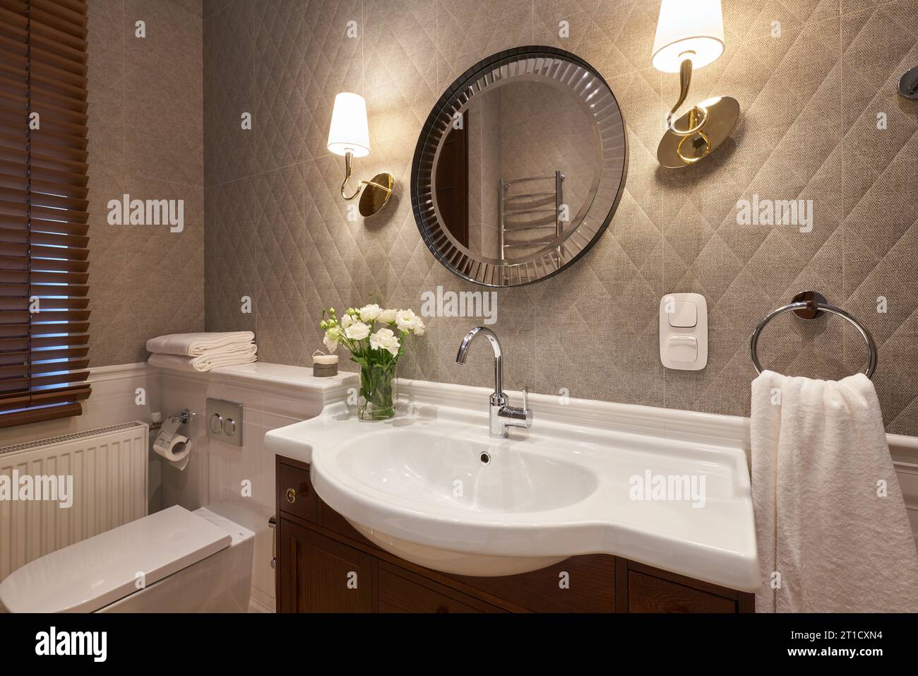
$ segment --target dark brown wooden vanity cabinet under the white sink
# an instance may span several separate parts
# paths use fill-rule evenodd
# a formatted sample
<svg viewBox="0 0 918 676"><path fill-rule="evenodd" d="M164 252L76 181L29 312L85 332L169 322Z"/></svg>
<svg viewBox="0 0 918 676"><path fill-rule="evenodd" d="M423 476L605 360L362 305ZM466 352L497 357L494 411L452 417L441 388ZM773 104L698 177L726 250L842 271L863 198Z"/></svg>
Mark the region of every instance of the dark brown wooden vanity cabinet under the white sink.
<svg viewBox="0 0 918 676"><path fill-rule="evenodd" d="M319 499L309 467L277 456L279 613L748 613L754 595L624 558L572 557L521 575L448 575L398 558Z"/></svg>

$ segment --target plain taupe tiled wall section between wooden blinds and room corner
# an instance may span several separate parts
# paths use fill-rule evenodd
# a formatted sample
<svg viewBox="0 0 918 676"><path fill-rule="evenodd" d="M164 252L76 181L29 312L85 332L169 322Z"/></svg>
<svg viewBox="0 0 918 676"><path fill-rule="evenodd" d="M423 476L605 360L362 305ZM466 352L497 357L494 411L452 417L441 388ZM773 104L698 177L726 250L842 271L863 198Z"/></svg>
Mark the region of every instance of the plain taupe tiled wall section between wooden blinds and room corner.
<svg viewBox="0 0 918 676"><path fill-rule="evenodd" d="M204 329L202 7L93 0L88 30L90 357L107 366L145 360L151 336ZM125 193L184 199L185 230L109 225Z"/></svg>

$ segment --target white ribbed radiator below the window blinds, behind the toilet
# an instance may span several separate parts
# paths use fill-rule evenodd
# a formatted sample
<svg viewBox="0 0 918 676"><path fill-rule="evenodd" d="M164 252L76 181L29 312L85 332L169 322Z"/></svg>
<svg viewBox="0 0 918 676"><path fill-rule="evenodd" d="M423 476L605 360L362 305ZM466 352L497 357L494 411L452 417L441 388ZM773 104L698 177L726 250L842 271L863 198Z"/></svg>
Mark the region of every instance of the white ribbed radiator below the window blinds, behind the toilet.
<svg viewBox="0 0 918 676"><path fill-rule="evenodd" d="M147 423L135 422L0 447L0 580L55 549L145 516L148 443ZM33 480L24 477L50 476L64 477L62 486L73 477L70 507L34 500L34 483L33 500L18 499L28 497L23 487ZM53 495L42 480L45 497ZM15 499L9 490L17 490Z"/></svg>

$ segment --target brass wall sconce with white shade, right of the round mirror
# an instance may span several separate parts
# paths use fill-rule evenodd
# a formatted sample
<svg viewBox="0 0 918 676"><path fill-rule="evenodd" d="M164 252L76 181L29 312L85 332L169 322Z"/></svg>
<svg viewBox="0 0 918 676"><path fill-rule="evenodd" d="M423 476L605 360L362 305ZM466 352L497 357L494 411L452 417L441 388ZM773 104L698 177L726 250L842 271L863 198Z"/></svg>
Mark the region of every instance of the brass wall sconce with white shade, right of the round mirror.
<svg viewBox="0 0 918 676"><path fill-rule="evenodd" d="M704 68L723 53L721 0L663 0L656 23L654 67L679 73L681 91L666 116L666 134L656 149L656 159L667 169L698 162L729 138L740 117L739 102L715 96L676 119L676 111L689 96L693 69Z"/></svg>

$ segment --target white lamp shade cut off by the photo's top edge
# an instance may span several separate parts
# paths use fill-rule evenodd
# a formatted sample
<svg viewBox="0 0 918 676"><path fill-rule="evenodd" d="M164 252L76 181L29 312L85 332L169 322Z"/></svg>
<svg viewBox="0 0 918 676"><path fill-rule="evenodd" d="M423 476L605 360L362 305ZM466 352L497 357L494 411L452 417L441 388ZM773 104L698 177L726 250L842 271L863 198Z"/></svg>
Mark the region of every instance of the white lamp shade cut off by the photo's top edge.
<svg viewBox="0 0 918 676"><path fill-rule="evenodd" d="M664 73L678 73L690 54L692 68L703 68L723 53L721 0L663 0L656 22L654 67ZM682 58L679 58L682 56Z"/></svg>

